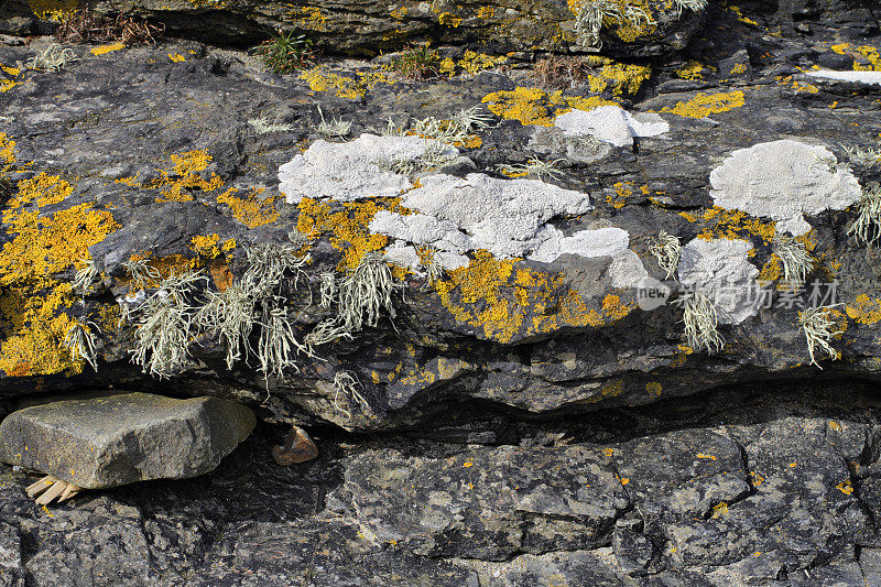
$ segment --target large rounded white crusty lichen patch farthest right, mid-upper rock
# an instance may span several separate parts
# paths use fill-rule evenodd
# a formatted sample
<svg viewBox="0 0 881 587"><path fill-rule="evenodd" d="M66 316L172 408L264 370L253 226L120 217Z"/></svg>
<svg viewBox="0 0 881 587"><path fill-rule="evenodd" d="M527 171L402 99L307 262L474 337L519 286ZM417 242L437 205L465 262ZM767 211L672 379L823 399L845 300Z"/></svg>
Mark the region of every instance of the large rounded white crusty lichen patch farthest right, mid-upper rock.
<svg viewBox="0 0 881 587"><path fill-rule="evenodd" d="M859 182L824 146L782 140L739 149L709 176L717 206L777 221L777 230L811 230L805 215L842 210L861 195Z"/></svg>

